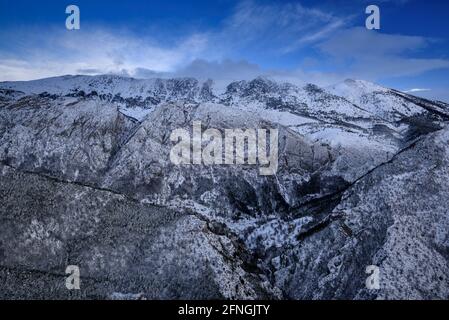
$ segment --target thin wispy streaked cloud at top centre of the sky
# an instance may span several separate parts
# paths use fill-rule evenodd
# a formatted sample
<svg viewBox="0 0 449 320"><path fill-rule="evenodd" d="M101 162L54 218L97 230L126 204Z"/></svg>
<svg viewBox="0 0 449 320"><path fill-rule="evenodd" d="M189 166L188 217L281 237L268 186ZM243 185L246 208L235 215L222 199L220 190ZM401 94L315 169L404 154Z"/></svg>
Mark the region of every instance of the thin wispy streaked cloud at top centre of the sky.
<svg viewBox="0 0 449 320"><path fill-rule="evenodd" d="M340 17L296 3L240 3L219 35L234 47L264 47L289 53L322 40L344 27L351 17Z"/></svg>

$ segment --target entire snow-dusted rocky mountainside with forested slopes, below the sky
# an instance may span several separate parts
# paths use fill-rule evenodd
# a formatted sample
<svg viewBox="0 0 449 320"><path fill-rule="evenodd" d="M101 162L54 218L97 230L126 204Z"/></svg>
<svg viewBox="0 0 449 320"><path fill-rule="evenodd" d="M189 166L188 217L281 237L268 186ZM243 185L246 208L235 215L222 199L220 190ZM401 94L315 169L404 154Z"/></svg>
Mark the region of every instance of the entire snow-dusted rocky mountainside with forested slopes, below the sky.
<svg viewBox="0 0 449 320"><path fill-rule="evenodd" d="M448 119L358 80L1 83L0 297L447 299ZM277 174L174 165L194 121L277 128Z"/></svg>

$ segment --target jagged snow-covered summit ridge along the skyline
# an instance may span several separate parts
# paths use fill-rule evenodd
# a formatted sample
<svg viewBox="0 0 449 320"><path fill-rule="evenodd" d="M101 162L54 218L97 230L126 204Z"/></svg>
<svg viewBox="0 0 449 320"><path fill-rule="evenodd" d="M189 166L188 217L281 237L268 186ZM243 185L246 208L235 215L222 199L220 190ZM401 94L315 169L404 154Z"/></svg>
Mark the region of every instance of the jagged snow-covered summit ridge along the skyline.
<svg viewBox="0 0 449 320"><path fill-rule="evenodd" d="M217 95L213 89L213 81L200 82L194 78L173 79L134 79L115 75L99 76L61 76L32 81L0 82L0 89L14 90L23 94L52 95L99 95L104 99L119 101L127 98L142 99L148 104L175 101L179 99L194 102L229 101L232 99L261 99L264 96L271 98L290 97L299 102L310 102L311 97L334 95L340 99L366 107L367 96L376 94L389 94L392 90L363 80L347 79L342 83L320 88L313 84L298 87L290 83L277 83L265 77L258 77L251 81L235 81L230 83L226 91ZM335 98L334 97L334 98ZM379 106L378 106L379 107ZM376 113L368 108L369 112ZM336 110L335 110L336 111ZM418 110L415 110L418 112ZM379 112L377 112L379 113Z"/></svg>

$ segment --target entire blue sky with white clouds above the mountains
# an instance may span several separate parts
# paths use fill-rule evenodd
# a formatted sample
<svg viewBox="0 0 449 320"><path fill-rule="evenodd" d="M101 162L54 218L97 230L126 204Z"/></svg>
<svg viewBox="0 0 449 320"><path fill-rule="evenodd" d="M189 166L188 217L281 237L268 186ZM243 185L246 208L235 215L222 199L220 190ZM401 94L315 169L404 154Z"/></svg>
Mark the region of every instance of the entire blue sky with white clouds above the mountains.
<svg viewBox="0 0 449 320"><path fill-rule="evenodd" d="M81 29L65 28L78 5ZM381 29L365 28L376 4ZM63 74L374 81L449 101L449 1L0 0L0 81Z"/></svg>

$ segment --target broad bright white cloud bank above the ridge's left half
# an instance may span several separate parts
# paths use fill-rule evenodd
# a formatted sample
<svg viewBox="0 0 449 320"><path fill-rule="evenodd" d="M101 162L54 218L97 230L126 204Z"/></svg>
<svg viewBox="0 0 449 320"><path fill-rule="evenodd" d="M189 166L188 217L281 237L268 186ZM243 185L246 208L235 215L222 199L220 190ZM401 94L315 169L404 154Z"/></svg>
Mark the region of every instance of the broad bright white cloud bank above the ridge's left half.
<svg viewBox="0 0 449 320"><path fill-rule="evenodd" d="M15 52L0 51L0 80L29 80L80 71L133 75L141 67L173 72L193 61L207 45L207 38L199 34L164 47L151 38L103 28L21 32L0 35L2 41L20 39L23 48Z"/></svg>

